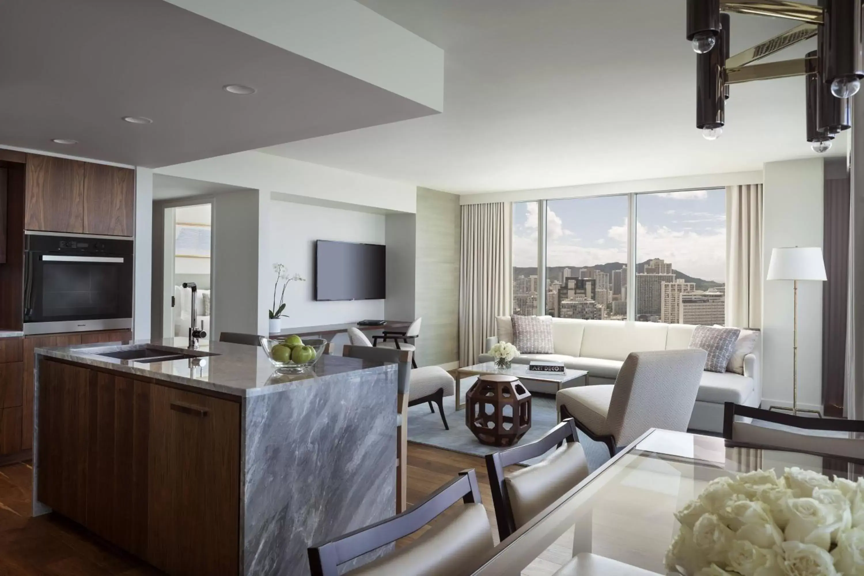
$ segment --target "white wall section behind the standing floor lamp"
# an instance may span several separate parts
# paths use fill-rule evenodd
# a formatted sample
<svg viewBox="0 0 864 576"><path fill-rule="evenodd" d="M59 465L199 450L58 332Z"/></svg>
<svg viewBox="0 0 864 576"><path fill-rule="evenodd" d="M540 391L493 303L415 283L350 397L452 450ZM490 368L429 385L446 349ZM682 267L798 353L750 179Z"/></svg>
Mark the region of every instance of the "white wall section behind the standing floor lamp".
<svg viewBox="0 0 864 576"><path fill-rule="evenodd" d="M764 180L765 272L773 248L823 245L823 159L769 162ZM798 406L822 407L823 282L798 282ZM791 281L763 288L763 406L792 402Z"/></svg>

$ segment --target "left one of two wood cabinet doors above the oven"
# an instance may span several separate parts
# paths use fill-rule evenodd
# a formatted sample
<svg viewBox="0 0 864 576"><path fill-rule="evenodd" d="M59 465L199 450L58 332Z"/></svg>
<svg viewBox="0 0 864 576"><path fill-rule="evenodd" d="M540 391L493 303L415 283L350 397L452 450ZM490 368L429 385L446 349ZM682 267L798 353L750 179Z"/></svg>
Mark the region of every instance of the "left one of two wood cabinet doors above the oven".
<svg viewBox="0 0 864 576"><path fill-rule="evenodd" d="M85 164L54 156L27 155L25 229L84 231Z"/></svg>

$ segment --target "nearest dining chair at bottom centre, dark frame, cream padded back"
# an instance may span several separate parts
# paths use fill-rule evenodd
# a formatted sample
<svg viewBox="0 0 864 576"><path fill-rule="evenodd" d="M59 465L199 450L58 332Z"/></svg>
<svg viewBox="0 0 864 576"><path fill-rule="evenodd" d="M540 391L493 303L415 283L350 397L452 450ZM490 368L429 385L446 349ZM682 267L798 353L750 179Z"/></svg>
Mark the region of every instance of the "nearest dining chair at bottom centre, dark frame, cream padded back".
<svg viewBox="0 0 864 576"><path fill-rule="evenodd" d="M463 470L411 510L308 548L312 576L336 576L341 564L416 532L459 500L461 505L450 509L447 516L407 546L345 574L461 576L473 573L494 548L494 542L489 516L480 500L476 473Z"/></svg>

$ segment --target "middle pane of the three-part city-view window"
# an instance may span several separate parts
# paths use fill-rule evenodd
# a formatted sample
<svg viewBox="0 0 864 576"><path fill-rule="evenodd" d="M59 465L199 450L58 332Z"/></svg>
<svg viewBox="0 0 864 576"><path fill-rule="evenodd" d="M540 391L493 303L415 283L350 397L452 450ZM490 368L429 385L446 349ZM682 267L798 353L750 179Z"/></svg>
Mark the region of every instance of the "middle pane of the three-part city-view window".
<svg viewBox="0 0 864 576"><path fill-rule="evenodd" d="M627 197L546 202L546 313L626 320Z"/></svg>

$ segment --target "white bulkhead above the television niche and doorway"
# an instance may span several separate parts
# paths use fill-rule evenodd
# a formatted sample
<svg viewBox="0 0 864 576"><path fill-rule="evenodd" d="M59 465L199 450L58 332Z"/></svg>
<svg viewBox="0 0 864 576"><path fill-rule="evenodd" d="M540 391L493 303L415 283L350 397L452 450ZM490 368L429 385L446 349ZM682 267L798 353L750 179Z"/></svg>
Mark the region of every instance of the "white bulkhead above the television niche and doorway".
<svg viewBox="0 0 864 576"><path fill-rule="evenodd" d="M416 187L254 150L156 168L158 174L351 206L416 212Z"/></svg>

